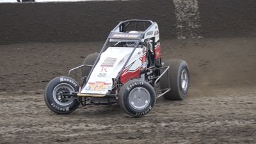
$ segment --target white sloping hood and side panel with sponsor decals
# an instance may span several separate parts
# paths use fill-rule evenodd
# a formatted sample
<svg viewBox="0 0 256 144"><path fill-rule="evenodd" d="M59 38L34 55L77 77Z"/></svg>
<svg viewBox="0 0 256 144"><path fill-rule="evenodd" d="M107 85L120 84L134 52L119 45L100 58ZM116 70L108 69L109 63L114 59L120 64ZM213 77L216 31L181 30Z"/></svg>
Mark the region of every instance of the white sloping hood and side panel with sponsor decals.
<svg viewBox="0 0 256 144"><path fill-rule="evenodd" d="M100 60L93 69L88 83L84 86L81 93L106 94L112 88L112 78L118 76L125 62L129 58L133 47L108 47L100 55ZM136 48L127 66L131 65L129 70L136 70L141 67L140 58L143 55L143 48ZM126 67L127 67L126 66Z"/></svg>

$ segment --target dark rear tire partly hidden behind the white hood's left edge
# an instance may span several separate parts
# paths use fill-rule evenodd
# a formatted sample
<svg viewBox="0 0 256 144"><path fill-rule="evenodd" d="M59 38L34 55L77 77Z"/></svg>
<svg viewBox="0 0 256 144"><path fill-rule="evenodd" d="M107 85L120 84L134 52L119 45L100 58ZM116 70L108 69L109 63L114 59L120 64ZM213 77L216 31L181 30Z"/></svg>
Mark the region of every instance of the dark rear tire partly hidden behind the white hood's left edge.
<svg viewBox="0 0 256 144"><path fill-rule="evenodd" d="M89 54L88 56L86 56L86 58L84 58L83 65L93 65L96 59L98 58L98 56L99 56L99 53ZM88 76L91 70L92 70L92 67L83 67L81 76L82 77Z"/></svg>

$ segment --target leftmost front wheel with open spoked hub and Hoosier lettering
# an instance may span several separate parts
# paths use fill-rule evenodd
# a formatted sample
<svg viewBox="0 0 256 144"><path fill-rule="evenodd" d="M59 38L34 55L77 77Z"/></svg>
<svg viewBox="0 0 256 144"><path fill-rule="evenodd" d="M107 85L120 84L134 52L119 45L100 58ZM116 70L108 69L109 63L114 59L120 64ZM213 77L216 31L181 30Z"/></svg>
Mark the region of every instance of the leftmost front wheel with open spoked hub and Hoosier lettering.
<svg viewBox="0 0 256 144"><path fill-rule="evenodd" d="M78 92L79 84L70 77L56 77L50 81L44 93L45 104L51 111L58 114L68 114L79 106L77 100L65 100L61 93Z"/></svg>

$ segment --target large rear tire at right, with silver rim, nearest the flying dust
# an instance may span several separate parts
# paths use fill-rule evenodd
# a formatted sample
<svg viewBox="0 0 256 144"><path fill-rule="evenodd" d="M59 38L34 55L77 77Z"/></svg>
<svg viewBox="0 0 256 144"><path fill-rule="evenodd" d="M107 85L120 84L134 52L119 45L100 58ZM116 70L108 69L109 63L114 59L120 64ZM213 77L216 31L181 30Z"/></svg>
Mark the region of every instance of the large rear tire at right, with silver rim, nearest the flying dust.
<svg viewBox="0 0 256 144"><path fill-rule="evenodd" d="M164 62L164 66L169 66L167 72L160 80L161 89L168 88L170 82L171 90L164 94L164 97L169 100L182 100L187 97L189 89L189 68L184 60L168 60ZM169 78L168 78L169 77Z"/></svg>

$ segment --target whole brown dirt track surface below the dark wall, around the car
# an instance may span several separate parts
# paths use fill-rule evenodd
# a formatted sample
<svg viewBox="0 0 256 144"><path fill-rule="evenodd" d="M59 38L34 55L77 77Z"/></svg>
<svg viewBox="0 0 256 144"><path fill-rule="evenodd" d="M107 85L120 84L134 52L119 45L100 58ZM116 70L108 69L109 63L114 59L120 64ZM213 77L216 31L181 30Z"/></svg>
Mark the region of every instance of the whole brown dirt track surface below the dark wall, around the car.
<svg viewBox="0 0 256 144"><path fill-rule="evenodd" d="M56 115L44 88L102 42L0 45L0 143L256 143L256 38L163 40L188 61L189 97L157 99L143 118L115 106Z"/></svg>

